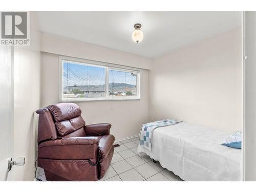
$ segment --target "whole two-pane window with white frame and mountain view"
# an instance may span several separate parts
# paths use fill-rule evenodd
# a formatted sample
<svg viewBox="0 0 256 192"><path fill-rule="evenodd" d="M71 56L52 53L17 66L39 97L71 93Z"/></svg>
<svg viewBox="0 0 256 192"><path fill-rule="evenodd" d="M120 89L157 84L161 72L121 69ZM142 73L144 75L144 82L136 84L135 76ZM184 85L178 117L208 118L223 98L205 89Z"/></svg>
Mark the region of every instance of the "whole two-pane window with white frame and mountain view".
<svg viewBox="0 0 256 192"><path fill-rule="evenodd" d="M60 57L60 101L139 99L139 71Z"/></svg>

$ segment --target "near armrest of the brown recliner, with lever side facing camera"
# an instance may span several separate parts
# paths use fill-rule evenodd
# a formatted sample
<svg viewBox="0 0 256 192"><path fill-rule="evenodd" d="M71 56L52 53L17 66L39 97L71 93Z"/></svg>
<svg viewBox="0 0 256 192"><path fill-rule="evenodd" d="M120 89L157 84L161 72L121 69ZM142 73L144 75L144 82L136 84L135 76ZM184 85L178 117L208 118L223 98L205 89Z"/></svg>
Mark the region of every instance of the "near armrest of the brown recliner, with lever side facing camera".
<svg viewBox="0 0 256 192"><path fill-rule="evenodd" d="M69 137L42 142L38 145L38 157L59 160L87 160L97 162L99 138Z"/></svg>

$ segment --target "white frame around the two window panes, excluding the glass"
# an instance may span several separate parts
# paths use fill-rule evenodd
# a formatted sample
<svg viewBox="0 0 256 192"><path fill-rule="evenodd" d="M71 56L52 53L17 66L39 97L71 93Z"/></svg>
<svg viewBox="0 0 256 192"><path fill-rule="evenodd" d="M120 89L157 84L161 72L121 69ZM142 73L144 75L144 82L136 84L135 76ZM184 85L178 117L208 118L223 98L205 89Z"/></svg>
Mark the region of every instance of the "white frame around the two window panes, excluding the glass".
<svg viewBox="0 0 256 192"><path fill-rule="evenodd" d="M95 97L95 98L63 98L62 92L62 75L63 75L63 61L69 61L77 63L78 65L84 66L94 66L94 67L101 67L105 69L105 97ZM116 70L122 72L132 72L137 74L137 96L110 96L109 95L109 70ZM67 56L59 56L59 78L58 78L58 97L59 102L82 102L82 101L98 101L98 100L140 100L140 72L141 70L138 68L126 67L121 65L115 65L113 63L108 62L101 62L101 61L94 61L88 59L79 59L74 57L67 57Z"/></svg>

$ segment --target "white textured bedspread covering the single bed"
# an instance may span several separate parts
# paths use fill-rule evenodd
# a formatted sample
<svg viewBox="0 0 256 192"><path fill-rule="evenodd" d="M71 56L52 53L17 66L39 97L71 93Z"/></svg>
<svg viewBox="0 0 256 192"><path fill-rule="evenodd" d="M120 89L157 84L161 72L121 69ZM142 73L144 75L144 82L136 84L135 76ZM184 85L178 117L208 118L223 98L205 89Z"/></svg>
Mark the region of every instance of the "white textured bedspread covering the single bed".
<svg viewBox="0 0 256 192"><path fill-rule="evenodd" d="M152 151L138 146L185 181L240 181L242 152L221 145L228 133L184 122L159 127Z"/></svg>

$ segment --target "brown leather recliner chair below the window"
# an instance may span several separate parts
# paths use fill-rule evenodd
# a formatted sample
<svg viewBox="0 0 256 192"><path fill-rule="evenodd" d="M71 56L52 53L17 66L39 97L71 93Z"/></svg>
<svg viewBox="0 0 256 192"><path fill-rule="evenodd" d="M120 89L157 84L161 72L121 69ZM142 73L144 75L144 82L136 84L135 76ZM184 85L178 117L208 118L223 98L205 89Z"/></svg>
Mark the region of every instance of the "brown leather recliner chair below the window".
<svg viewBox="0 0 256 192"><path fill-rule="evenodd" d="M75 103L57 103L36 111L38 166L48 181L97 181L111 163L115 138L111 124L86 125Z"/></svg>

